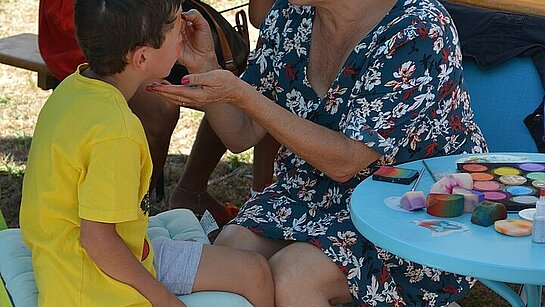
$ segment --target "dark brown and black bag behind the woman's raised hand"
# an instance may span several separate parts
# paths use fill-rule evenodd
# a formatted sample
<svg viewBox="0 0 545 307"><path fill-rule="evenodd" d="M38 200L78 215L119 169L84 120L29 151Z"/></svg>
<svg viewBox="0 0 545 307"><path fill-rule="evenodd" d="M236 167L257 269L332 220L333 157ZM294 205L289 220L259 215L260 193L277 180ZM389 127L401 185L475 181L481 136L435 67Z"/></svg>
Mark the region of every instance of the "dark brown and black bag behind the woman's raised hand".
<svg viewBox="0 0 545 307"><path fill-rule="evenodd" d="M184 11L196 9L208 21L219 64L223 69L240 75L246 69L246 60L250 52L248 22L246 13L236 13L236 25L233 27L218 11L200 0L185 0Z"/></svg>

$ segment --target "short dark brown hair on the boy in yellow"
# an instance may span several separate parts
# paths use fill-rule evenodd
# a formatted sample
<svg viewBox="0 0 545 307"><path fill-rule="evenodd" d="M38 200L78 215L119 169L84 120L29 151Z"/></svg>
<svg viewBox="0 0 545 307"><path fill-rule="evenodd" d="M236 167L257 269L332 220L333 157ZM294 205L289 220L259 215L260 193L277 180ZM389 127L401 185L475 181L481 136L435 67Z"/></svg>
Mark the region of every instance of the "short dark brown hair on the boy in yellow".
<svg viewBox="0 0 545 307"><path fill-rule="evenodd" d="M183 0L76 0L78 43L99 75L120 73L139 46L160 48Z"/></svg>

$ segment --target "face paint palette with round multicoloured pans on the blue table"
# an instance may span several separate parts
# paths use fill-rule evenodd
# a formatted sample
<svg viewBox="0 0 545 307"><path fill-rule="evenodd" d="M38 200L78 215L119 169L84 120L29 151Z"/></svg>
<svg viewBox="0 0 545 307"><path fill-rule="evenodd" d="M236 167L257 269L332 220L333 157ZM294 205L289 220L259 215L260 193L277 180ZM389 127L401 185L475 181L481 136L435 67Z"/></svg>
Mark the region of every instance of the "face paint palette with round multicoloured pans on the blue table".
<svg viewBox="0 0 545 307"><path fill-rule="evenodd" d="M473 189L485 200L499 202L508 211L533 208L539 190L545 188L545 163L457 163L458 171L469 173Z"/></svg>

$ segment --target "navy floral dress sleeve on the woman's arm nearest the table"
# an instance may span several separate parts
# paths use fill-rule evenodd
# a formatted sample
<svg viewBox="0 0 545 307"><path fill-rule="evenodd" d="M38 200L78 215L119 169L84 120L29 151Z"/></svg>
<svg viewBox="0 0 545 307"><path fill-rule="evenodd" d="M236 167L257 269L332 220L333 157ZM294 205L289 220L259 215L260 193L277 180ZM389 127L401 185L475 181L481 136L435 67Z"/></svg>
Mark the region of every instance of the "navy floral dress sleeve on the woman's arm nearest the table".
<svg viewBox="0 0 545 307"><path fill-rule="evenodd" d="M340 130L390 157L400 147L417 150L417 144L426 146L441 135L455 134L455 119L449 116L450 108L457 106L449 97L465 95L459 87L461 57L452 24L410 24L370 56L352 89ZM458 98L469 108L467 97Z"/></svg>

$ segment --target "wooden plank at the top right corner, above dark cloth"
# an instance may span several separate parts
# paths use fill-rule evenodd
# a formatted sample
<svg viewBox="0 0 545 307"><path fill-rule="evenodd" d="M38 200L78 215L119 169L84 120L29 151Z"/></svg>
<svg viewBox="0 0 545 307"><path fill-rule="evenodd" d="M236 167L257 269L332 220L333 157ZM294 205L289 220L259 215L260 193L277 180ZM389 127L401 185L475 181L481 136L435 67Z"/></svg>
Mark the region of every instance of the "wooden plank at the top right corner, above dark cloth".
<svg viewBox="0 0 545 307"><path fill-rule="evenodd" d="M497 11L545 17L545 0L447 0Z"/></svg>

